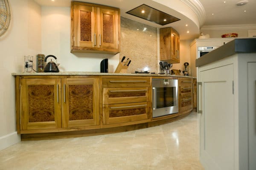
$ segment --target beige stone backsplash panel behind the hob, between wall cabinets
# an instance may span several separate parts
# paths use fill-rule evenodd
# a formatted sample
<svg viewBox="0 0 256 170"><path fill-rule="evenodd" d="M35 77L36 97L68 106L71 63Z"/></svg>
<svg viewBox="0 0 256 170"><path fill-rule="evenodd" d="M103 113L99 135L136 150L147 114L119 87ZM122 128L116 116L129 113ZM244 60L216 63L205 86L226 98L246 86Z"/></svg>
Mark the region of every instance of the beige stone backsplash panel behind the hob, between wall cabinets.
<svg viewBox="0 0 256 170"><path fill-rule="evenodd" d="M131 60L127 73L157 73L157 28L121 17L120 61Z"/></svg>

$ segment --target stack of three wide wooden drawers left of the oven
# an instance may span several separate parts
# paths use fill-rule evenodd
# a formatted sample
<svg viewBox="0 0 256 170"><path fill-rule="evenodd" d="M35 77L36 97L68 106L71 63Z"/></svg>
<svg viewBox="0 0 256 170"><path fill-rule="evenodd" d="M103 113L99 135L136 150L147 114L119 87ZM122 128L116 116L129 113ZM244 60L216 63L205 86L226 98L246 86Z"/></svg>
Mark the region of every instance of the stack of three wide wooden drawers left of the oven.
<svg viewBox="0 0 256 170"><path fill-rule="evenodd" d="M103 124L149 119L150 78L102 78Z"/></svg>

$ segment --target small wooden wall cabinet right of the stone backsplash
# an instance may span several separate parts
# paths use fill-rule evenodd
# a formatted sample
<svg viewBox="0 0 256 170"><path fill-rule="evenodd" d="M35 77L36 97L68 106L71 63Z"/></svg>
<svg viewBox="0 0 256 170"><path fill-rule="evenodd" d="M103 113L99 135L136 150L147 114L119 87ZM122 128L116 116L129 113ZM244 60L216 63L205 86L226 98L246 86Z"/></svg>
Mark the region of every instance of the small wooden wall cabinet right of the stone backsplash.
<svg viewBox="0 0 256 170"><path fill-rule="evenodd" d="M160 28L160 60L180 63L180 35L172 27Z"/></svg>

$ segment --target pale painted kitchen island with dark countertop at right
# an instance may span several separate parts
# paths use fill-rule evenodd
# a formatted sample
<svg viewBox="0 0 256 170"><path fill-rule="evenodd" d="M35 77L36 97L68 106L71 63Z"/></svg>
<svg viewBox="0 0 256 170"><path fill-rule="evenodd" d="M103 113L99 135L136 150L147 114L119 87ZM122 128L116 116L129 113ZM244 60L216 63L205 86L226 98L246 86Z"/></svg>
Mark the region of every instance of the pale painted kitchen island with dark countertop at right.
<svg viewBox="0 0 256 170"><path fill-rule="evenodd" d="M200 161L206 170L256 170L256 38L196 60Z"/></svg>

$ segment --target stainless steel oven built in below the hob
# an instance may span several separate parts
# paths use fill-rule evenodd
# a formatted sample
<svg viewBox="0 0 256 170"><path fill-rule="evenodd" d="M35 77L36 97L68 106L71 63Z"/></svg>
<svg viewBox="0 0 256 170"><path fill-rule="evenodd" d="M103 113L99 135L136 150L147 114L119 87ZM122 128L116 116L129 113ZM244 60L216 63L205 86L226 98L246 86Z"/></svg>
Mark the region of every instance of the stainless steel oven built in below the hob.
<svg viewBox="0 0 256 170"><path fill-rule="evenodd" d="M152 79L153 118L179 112L178 80Z"/></svg>

